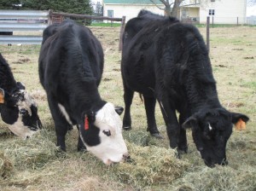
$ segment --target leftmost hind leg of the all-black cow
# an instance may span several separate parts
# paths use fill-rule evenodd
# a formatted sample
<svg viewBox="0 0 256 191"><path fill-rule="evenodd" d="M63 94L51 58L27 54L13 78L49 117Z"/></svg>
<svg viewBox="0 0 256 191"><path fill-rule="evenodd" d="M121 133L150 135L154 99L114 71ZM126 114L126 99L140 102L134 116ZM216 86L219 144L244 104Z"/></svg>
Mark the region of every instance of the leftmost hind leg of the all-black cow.
<svg viewBox="0 0 256 191"><path fill-rule="evenodd" d="M125 101L125 113L123 119L123 129L131 130L131 103L134 95L134 91L129 89L124 83L124 101Z"/></svg>

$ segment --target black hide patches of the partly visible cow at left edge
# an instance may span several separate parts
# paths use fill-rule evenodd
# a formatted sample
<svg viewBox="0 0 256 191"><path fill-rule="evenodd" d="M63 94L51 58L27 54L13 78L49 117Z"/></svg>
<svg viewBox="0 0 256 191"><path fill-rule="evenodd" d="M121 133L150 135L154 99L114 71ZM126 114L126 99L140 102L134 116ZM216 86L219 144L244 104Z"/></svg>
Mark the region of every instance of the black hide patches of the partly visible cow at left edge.
<svg viewBox="0 0 256 191"><path fill-rule="evenodd" d="M19 102L25 101L26 97L24 92L25 87L20 83L16 82L9 67L9 64L0 54L0 89L4 94L4 102L0 103L0 113L3 122L6 124L15 124L20 118L23 124L19 124L20 128L29 128L30 130L38 130L42 128L41 121L38 117L38 108L32 104L30 106L31 115L28 114L26 108L19 108Z"/></svg>

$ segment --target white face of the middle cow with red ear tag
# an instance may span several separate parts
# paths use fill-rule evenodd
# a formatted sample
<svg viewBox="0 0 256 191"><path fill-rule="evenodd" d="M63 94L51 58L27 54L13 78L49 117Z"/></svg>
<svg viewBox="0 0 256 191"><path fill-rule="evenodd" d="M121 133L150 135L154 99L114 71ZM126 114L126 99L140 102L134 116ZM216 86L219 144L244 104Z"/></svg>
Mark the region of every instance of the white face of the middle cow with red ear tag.
<svg viewBox="0 0 256 191"><path fill-rule="evenodd" d="M102 159L106 165L123 161L124 155L127 155L128 151L122 136L122 120L119 114L115 112L112 103L106 103L96 113L95 125L100 129L101 143L90 147L84 142L83 137L80 136L86 148L95 154L96 157ZM103 130L110 130L111 136L105 135Z"/></svg>

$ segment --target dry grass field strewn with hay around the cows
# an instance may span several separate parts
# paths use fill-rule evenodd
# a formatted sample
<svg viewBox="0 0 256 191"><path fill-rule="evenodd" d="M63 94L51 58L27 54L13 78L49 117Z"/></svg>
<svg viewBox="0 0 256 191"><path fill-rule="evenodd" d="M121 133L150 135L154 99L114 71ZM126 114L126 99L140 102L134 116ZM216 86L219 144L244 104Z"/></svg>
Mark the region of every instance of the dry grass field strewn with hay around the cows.
<svg viewBox="0 0 256 191"><path fill-rule="evenodd" d="M120 75L119 27L91 27L102 42L105 67L100 93L103 99L124 106ZM206 29L200 28L203 37ZM67 153L55 148L55 130L45 92L38 79L39 45L0 45L0 52L38 102L44 130L28 140L9 133L0 121L0 190L256 190L256 28L212 28L213 75L218 96L228 110L250 117L247 130L234 129L227 144L228 166L208 168L196 151L188 130L189 153L176 159L169 148L160 108L156 119L164 140L146 132L143 102L136 94L131 107L133 130L125 142L134 162L103 165L90 153L78 153L76 128L67 135ZM122 116L121 116L122 117Z"/></svg>

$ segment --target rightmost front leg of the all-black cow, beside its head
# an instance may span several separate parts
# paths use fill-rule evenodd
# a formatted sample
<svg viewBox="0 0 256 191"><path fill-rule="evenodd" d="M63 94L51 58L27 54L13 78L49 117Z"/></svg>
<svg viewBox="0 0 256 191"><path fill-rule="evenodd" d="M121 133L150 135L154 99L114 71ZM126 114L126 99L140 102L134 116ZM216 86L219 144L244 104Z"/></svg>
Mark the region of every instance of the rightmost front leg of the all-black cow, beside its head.
<svg viewBox="0 0 256 191"><path fill-rule="evenodd" d="M185 117L181 113L179 115L179 124L183 124L185 121ZM187 145L187 136L186 136L186 130L180 126L180 134L179 139L177 143L177 150L179 153L188 153L188 145Z"/></svg>

